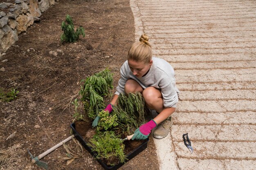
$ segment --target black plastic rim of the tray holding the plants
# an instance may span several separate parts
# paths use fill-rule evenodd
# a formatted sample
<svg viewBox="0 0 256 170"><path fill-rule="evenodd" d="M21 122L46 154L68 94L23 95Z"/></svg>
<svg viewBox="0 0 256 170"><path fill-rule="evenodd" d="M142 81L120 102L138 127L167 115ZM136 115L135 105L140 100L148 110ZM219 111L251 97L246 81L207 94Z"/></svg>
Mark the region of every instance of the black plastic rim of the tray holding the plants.
<svg viewBox="0 0 256 170"><path fill-rule="evenodd" d="M97 153L92 151L92 148L90 146L87 146L85 140L83 139L83 137L76 131L76 127L75 124L72 123L70 124L70 127L72 129L72 133L74 134L74 136L76 137L76 139L83 145L83 147L85 149L87 149L92 156L96 156ZM135 157L136 155L138 155L139 153L141 153L144 149L147 148L148 146L148 138L145 140L145 142L143 142L140 146L138 146L135 150L133 150L131 153L129 153L127 155L127 161L129 161L130 159L132 159L133 157ZM119 163L115 166L107 166L106 163L104 163L103 161L101 161L100 159L97 159L97 161L101 164L101 166L105 169L105 170L117 170L118 168L120 168L122 165L124 165L124 163ZM126 161L126 162L127 162Z"/></svg>

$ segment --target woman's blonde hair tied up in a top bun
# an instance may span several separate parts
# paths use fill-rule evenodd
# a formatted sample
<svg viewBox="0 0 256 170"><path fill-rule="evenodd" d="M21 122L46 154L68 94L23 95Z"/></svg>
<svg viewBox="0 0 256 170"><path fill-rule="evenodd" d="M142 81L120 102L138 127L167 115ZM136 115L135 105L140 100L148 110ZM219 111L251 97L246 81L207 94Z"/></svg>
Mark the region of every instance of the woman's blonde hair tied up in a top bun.
<svg viewBox="0 0 256 170"><path fill-rule="evenodd" d="M130 46L127 59L137 62L144 61L144 63L151 61L152 49L148 42L148 35L142 34L139 38L139 42L135 42Z"/></svg>

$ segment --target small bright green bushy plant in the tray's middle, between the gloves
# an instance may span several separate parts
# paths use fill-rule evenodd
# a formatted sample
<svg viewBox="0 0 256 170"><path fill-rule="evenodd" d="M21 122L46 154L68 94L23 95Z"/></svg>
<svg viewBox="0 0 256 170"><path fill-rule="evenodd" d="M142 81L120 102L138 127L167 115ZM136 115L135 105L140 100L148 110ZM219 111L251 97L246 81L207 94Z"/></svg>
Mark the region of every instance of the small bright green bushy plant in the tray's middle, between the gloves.
<svg viewBox="0 0 256 170"><path fill-rule="evenodd" d="M118 125L117 123L117 115L109 114L108 111L100 111L99 112L100 120L97 125L97 131L111 129Z"/></svg>

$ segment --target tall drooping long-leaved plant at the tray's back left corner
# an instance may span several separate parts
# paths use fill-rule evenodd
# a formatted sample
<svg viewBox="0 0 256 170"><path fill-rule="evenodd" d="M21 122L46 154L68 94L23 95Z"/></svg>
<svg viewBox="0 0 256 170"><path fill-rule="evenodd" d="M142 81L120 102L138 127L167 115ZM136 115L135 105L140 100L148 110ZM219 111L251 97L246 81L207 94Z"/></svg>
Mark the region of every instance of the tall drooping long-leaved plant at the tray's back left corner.
<svg viewBox="0 0 256 170"><path fill-rule="evenodd" d="M109 69L105 69L99 73L81 80L83 85L79 94L83 102L84 109L87 111L89 118L94 119L99 111L105 107L103 98L110 96L110 90L113 89L113 74Z"/></svg>

